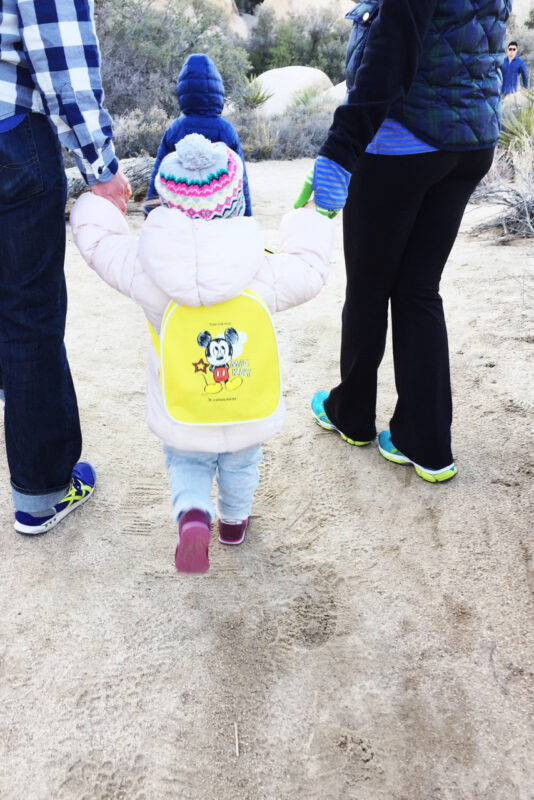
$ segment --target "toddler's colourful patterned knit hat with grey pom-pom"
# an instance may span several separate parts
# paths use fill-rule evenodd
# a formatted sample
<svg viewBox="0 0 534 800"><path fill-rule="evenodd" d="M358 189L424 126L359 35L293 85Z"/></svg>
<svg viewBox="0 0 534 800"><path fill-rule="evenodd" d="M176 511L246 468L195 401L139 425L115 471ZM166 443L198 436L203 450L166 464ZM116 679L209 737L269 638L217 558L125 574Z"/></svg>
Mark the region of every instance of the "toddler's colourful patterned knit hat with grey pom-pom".
<svg viewBox="0 0 534 800"><path fill-rule="evenodd" d="M155 182L163 205L191 219L237 217L245 212L243 162L224 142L190 133L165 156Z"/></svg>

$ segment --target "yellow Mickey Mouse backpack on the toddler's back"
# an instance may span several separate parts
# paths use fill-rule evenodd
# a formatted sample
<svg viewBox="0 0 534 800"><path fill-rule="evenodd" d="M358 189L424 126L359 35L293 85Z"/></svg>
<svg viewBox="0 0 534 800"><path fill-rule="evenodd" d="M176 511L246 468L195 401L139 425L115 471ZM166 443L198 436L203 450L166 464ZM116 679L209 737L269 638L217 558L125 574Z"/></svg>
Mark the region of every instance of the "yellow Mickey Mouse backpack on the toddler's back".
<svg viewBox="0 0 534 800"><path fill-rule="evenodd" d="M280 365L269 310L250 289L214 306L171 301L159 337L163 402L185 425L234 425L266 419L280 402Z"/></svg>

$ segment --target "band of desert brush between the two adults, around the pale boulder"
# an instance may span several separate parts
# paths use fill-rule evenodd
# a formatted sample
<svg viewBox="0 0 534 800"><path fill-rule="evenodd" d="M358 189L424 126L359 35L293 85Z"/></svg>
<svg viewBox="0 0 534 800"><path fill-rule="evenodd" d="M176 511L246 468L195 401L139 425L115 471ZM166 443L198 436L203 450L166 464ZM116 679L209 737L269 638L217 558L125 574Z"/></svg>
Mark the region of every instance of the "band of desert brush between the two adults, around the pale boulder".
<svg viewBox="0 0 534 800"><path fill-rule="evenodd" d="M222 75L228 117L246 157L315 156L330 124L331 109L297 98L283 117L256 114L268 99L256 76L276 67L321 69L343 80L349 26L326 9L277 20L254 0L237 3L256 12L253 32L239 38L229 19L209 0L99 0L96 23L102 50L106 105L115 123L120 158L154 156L163 131L180 109L176 79L186 58L207 53Z"/></svg>

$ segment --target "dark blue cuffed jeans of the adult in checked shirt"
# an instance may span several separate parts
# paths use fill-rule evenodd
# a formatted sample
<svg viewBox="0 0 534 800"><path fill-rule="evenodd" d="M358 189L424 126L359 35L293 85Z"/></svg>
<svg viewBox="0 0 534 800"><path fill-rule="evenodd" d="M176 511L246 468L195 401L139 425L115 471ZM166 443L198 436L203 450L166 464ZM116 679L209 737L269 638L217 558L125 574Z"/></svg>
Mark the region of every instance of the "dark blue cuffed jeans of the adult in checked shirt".
<svg viewBox="0 0 534 800"><path fill-rule="evenodd" d="M66 178L48 119L0 133L0 386L13 502L41 511L68 488L81 453L63 337Z"/></svg>

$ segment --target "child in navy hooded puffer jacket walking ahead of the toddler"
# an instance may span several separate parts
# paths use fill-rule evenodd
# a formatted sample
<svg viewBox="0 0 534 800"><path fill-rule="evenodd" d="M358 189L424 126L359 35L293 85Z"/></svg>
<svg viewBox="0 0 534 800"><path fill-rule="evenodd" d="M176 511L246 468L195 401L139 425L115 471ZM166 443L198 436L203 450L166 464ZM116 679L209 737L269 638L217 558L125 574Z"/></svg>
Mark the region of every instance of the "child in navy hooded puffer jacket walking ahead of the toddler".
<svg viewBox="0 0 534 800"><path fill-rule="evenodd" d="M245 216L252 216L245 157L239 136L233 125L221 117L224 106L224 84L219 70L209 56L203 53L190 55L182 67L176 84L176 96L182 116L173 120L161 140L152 177L145 200L145 216L160 205L154 188L159 165L166 155L174 152L175 145L190 133L200 133L211 142L224 142L237 153L243 162L243 191Z"/></svg>

